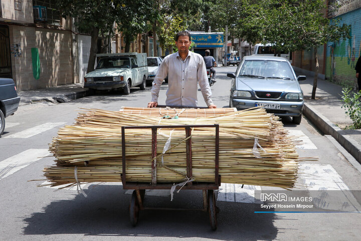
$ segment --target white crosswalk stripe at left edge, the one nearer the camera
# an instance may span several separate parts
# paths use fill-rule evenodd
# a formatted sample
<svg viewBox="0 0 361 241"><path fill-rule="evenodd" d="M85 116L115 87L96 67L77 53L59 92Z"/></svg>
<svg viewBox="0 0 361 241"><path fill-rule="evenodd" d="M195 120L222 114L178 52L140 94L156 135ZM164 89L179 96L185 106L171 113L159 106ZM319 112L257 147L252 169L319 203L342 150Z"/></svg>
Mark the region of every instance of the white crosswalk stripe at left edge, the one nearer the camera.
<svg viewBox="0 0 361 241"><path fill-rule="evenodd" d="M48 149L29 149L0 162L0 180L48 156Z"/></svg>

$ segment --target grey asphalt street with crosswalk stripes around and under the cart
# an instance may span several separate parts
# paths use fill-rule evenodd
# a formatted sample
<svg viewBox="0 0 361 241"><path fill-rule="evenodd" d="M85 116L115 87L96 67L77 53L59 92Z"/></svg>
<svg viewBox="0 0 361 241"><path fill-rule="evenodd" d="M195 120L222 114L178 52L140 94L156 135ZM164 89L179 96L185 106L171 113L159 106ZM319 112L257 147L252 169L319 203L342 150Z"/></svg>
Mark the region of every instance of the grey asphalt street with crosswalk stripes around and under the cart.
<svg viewBox="0 0 361 241"><path fill-rule="evenodd" d="M216 68L217 83L211 88L218 107L228 106L231 81L226 73L235 69ZM161 87L160 104L164 103L166 88L166 84ZM44 183L43 168L54 163L52 157L44 157L48 155L48 144L60 127L74 123L81 108L118 110L121 106L146 106L148 101L150 87L144 91L132 88L130 95L109 92L61 104L24 105L8 117L6 132L0 138L0 240L359 239L361 214L357 212L334 213L325 208L325 212L317 213L255 213L259 204L219 199L216 231L210 228L208 213L201 211L145 210L140 213L138 225L132 227L130 195L119 183L87 184L87 198L76 189L37 187ZM205 106L200 91L199 106ZM283 118L282 122L291 133L305 139L307 145L297 149L300 157L319 158L302 163L294 190L343 187L342 191L337 189L343 192L347 187L355 191L359 201L361 175L332 138L322 136L306 118L298 126L292 124L291 118ZM309 170L315 171L310 174ZM307 173L310 175L305 177ZM200 208L202 192L180 191L172 202L167 192L149 192L145 201L149 206ZM359 204L353 204L354 210L360 211Z"/></svg>

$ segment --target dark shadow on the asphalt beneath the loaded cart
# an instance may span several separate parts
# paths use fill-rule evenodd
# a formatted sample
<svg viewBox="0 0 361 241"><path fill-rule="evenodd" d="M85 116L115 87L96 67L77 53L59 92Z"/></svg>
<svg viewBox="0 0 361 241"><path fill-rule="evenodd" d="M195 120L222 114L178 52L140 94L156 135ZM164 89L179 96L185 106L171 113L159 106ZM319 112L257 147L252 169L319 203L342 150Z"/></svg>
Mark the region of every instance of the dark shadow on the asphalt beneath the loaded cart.
<svg viewBox="0 0 361 241"><path fill-rule="evenodd" d="M79 194L73 199L55 200L43 211L25 217L23 233L273 240L278 232L274 213L254 213L259 204L223 201L217 202L220 211L216 231L211 230L209 214L195 210L143 210L133 227L129 221L130 195L124 194L120 186L98 185L88 190L87 198ZM176 193L172 202L169 197L145 196L144 202L158 207L200 208L202 191L184 190Z"/></svg>

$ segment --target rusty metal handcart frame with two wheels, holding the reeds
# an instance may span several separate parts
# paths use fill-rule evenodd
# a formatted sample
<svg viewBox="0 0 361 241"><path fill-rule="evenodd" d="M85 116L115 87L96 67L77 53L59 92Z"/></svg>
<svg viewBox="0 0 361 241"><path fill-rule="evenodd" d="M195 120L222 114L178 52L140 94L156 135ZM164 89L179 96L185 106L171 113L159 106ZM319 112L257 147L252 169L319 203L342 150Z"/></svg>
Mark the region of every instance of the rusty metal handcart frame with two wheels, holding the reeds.
<svg viewBox="0 0 361 241"><path fill-rule="evenodd" d="M188 182L183 187L176 186L175 189L187 189L187 190L202 190L203 191L203 209L192 209L202 210L209 212L211 227L213 230L217 229L217 217L218 207L216 206L216 199L214 190L218 190L221 185L221 176L219 175L219 125L179 125L179 126L144 126L144 127L122 127L122 184L123 189L134 189L130 206L130 222L135 226L138 222L139 211L145 209L163 209L163 210L190 210L190 209L179 209L179 208L154 208L145 207L144 195L145 189L170 189L173 183L159 183L156 180L156 146L157 146L157 129L175 129L184 128L186 131L186 152L187 152L187 177L191 178L192 175L192 128L215 128L215 181L214 183L206 182ZM152 181L151 184L143 182L127 182L126 181L126 158L125 158L125 129L151 129L152 131Z"/></svg>

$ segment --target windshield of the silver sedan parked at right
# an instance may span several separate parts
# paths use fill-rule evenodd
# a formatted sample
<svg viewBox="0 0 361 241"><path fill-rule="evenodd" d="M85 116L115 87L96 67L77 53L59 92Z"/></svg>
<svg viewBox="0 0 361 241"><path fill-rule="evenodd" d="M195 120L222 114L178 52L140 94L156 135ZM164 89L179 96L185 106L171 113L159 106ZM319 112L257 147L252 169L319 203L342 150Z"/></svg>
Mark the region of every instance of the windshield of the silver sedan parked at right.
<svg viewBox="0 0 361 241"><path fill-rule="evenodd" d="M238 76L294 79L287 62L273 60L246 60Z"/></svg>

